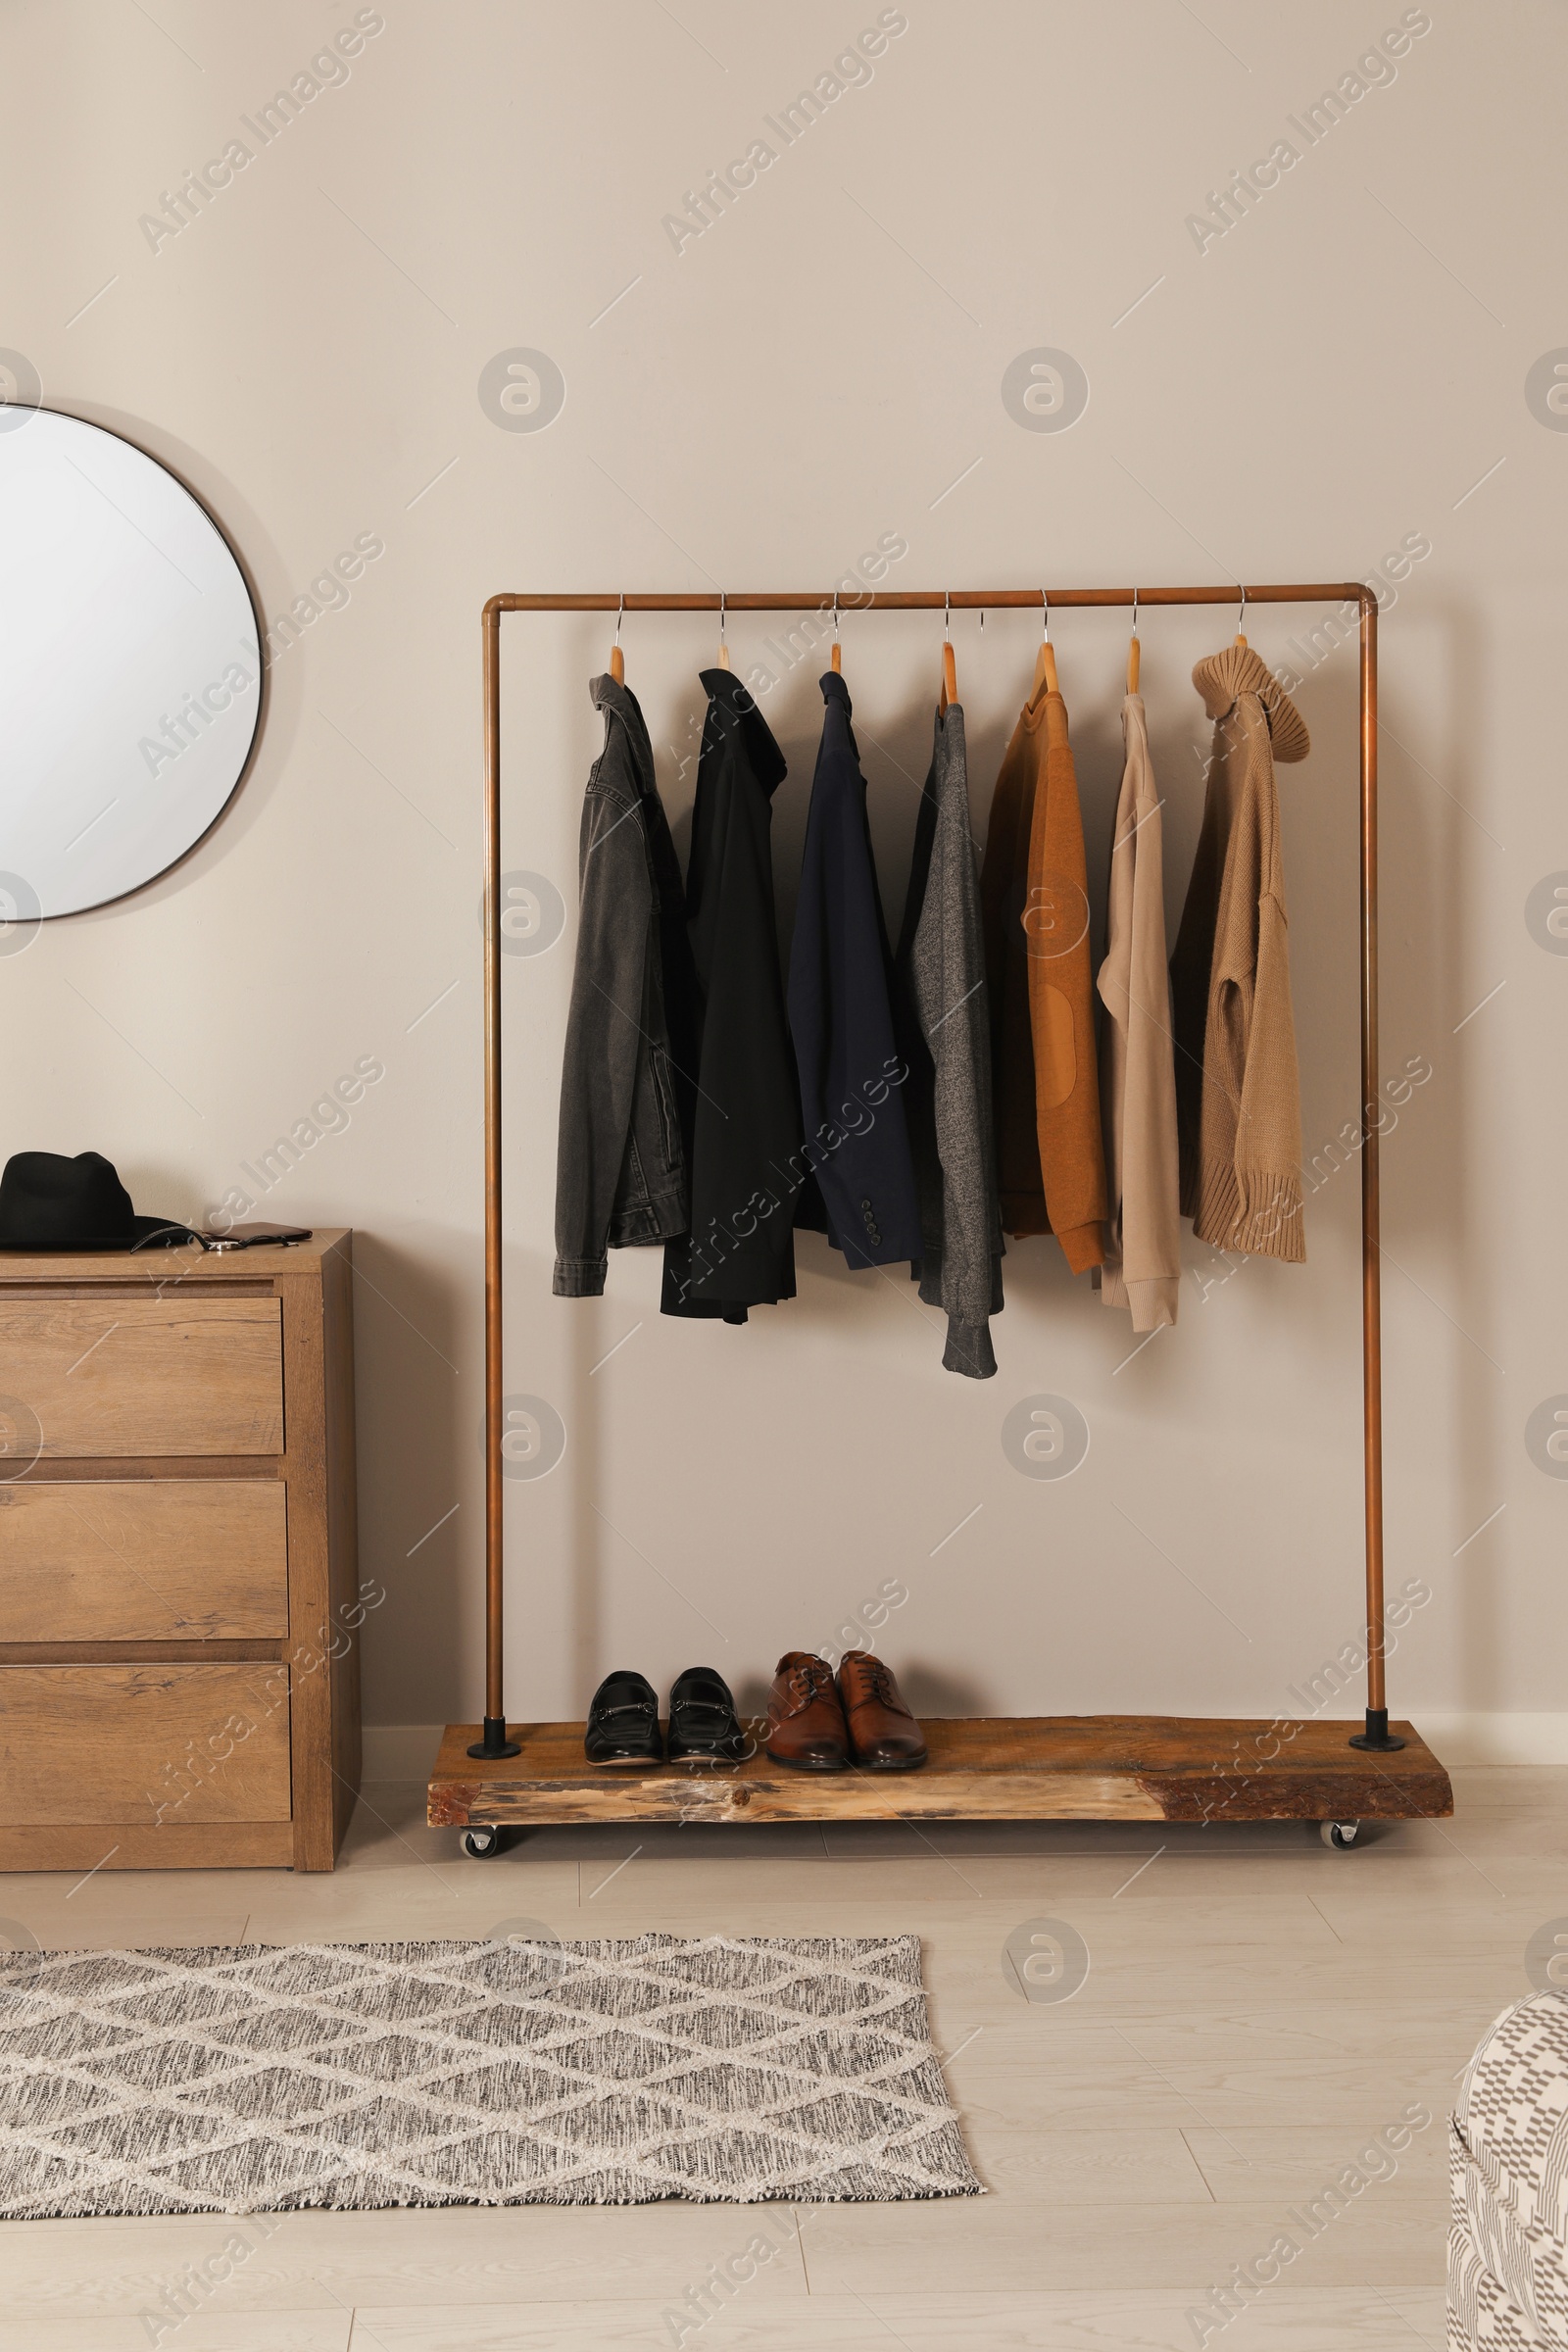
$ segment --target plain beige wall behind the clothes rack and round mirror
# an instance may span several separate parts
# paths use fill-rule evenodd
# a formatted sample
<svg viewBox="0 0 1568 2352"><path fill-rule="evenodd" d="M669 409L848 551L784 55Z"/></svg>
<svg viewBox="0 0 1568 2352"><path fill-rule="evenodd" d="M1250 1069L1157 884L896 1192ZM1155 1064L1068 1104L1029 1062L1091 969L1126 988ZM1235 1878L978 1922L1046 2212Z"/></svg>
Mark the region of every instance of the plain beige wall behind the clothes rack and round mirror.
<svg viewBox="0 0 1568 2352"><path fill-rule="evenodd" d="M24 235L0 341L49 405L190 480L268 619L360 534L386 543L273 666L259 760L200 851L0 964L5 1148L94 1145L139 1207L197 1211L339 1073L383 1065L261 1214L357 1228L364 1564L390 1595L367 1715L473 1715L482 600L811 588L884 534L910 588L1345 579L1429 546L1382 626L1382 1065L1432 1073L1385 1148L1389 1583L1432 1592L1392 1696L1549 1715L1568 1489L1523 1432L1568 1388L1568 962L1526 896L1568 868L1568 437L1526 372L1568 341L1547 172L1563 16L1432 0L1396 78L1307 146L1291 118L1422 12L903 14L870 80L783 148L764 118L877 24L872 0L386 0L348 80L261 148L242 118L353 7L5 9ZM141 226L235 136L256 153L207 212ZM773 165L677 252L663 216L757 139ZM1206 193L1281 139L1300 160L1225 235L1194 230ZM1004 369L1039 346L1086 372L1070 430L1004 407ZM564 376L545 430L503 430L480 400L515 348ZM1288 647L1321 619L1251 619L1269 661L1307 670L1314 734L1281 776L1309 1152L1356 1110L1354 652L1307 668ZM607 630L505 628L508 866L571 908ZM1145 626L1173 917L1206 736L1190 668L1229 628ZM738 668L764 635L736 621ZM983 828L1037 633L980 637L966 616L954 635ZM1056 635L1100 894L1126 630L1065 614ZM938 637L844 623L893 922ZM712 633L637 621L625 647L684 847ZM790 757L788 920L816 663L764 708ZM745 1331L661 1322L658 1254L621 1254L597 1303L552 1301L569 978L571 920L505 964L508 1388L569 1435L552 1475L508 1486L512 1712L581 1712L616 1663L665 1682L710 1661L752 1696L785 1644L842 1642L886 1581L907 1599L879 1642L933 1712L1300 1705L1291 1686L1361 1606L1354 1164L1309 1202L1305 1270L1187 1242L1180 1324L1131 1362L1126 1319L1039 1240L1006 1261L985 1385L943 1374L910 1284L849 1275L813 1237L799 1298ZM1039 1392L1091 1428L1063 1482L1001 1449Z"/></svg>

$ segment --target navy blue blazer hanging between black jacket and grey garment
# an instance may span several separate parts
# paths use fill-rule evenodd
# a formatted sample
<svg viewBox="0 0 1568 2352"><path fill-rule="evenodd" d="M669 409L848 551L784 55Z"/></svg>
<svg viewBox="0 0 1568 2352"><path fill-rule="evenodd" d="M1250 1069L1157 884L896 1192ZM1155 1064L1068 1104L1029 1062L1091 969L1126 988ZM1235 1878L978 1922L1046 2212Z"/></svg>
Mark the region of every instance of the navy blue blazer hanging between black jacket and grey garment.
<svg viewBox="0 0 1568 2352"><path fill-rule="evenodd" d="M790 1035L816 1174L795 1223L825 1230L851 1265L896 1265L924 1249L903 1110L910 1070L893 1033L893 957L837 670L823 677L823 703L790 948Z"/></svg>

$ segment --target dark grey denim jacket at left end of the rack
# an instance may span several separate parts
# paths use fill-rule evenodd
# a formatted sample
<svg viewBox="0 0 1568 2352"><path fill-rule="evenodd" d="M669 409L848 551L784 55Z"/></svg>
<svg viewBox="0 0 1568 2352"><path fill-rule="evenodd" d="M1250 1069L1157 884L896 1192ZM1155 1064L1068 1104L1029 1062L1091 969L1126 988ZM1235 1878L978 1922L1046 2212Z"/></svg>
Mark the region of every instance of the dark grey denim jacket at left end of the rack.
<svg viewBox="0 0 1568 2352"><path fill-rule="evenodd" d="M597 1298L607 1249L686 1230L682 1089L696 967L675 842L637 696L590 684L604 750L583 795L578 941L555 1164L557 1298Z"/></svg>

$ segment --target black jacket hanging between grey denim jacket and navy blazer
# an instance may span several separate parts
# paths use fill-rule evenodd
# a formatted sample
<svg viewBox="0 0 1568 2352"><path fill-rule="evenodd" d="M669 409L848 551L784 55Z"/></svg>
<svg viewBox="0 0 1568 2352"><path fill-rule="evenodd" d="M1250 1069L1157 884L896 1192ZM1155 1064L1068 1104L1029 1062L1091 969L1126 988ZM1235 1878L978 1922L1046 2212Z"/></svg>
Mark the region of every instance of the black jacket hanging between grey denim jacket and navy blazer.
<svg viewBox="0 0 1568 2352"><path fill-rule="evenodd" d="M665 1315L795 1298L799 1091L773 917L773 793L785 757L731 670L703 670L686 913L703 990L691 1108L691 1232L665 1242Z"/></svg>

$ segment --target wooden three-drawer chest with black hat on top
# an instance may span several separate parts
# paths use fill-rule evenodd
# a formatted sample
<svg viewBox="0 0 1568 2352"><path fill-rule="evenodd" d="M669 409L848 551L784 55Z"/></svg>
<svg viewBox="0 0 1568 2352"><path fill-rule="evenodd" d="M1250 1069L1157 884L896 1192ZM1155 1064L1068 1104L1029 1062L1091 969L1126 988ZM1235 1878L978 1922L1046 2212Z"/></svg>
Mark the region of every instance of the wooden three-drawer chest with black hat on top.
<svg viewBox="0 0 1568 2352"><path fill-rule="evenodd" d="M331 1870L360 1785L350 1235L0 1254L0 1870Z"/></svg>

